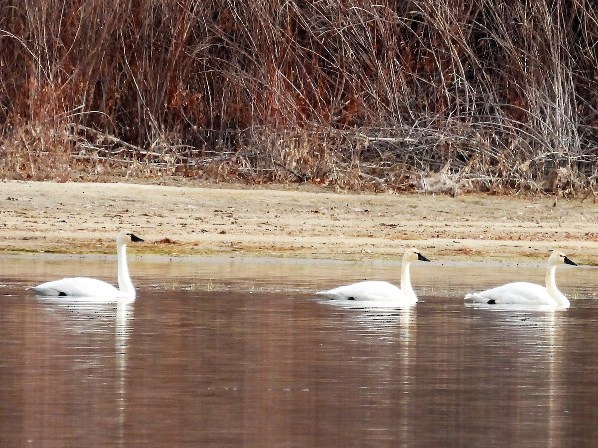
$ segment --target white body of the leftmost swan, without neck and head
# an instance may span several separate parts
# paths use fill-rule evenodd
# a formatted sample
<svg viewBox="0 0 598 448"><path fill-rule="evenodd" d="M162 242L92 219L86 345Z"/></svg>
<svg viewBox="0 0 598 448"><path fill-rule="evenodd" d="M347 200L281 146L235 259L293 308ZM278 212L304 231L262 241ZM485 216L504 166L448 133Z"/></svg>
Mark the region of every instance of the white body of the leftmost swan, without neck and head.
<svg viewBox="0 0 598 448"><path fill-rule="evenodd" d="M29 288L38 296L68 297L121 297L118 289L105 281L89 277L71 277L53 280Z"/></svg>

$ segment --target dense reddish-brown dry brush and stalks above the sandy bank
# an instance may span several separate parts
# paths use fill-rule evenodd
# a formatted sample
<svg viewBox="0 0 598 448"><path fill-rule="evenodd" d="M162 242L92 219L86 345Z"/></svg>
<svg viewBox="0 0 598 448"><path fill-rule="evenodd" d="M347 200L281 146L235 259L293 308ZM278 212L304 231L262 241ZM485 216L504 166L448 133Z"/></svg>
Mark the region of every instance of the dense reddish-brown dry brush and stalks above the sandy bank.
<svg viewBox="0 0 598 448"><path fill-rule="evenodd" d="M596 188L591 2L2 2L7 179Z"/></svg>

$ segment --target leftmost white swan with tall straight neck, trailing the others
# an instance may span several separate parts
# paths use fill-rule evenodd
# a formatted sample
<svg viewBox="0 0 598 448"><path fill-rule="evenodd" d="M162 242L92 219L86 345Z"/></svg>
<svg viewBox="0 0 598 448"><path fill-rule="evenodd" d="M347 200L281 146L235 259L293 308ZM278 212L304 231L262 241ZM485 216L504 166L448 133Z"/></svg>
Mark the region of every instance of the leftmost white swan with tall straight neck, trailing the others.
<svg viewBox="0 0 598 448"><path fill-rule="evenodd" d="M38 296L103 297L114 299L135 299L135 287L129 277L127 266L128 243L144 241L130 232L121 231L116 238L118 254L118 289L105 281L88 277L71 277L48 281L28 289Z"/></svg>

